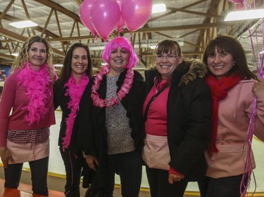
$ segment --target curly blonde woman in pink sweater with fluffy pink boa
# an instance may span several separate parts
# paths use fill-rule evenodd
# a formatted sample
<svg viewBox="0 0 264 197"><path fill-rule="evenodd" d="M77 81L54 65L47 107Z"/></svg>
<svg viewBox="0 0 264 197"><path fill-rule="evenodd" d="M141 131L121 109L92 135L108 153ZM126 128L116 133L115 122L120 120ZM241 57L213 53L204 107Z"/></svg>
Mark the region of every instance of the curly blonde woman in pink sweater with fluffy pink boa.
<svg viewBox="0 0 264 197"><path fill-rule="evenodd" d="M33 193L49 196L49 126L55 124L51 48L46 39L25 41L4 83L0 102L0 156L5 187L18 188L29 162Z"/></svg>

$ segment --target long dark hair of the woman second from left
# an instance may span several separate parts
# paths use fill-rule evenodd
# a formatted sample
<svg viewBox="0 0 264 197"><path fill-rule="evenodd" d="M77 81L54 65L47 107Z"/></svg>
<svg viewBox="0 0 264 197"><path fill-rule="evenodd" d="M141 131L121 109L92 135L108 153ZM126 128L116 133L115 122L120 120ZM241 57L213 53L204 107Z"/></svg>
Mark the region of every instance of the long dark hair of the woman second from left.
<svg viewBox="0 0 264 197"><path fill-rule="evenodd" d="M89 47L83 43L74 43L72 46L70 46L64 61L63 61L63 67L61 69L61 75L58 79L58 82L60 83L66 83L70 79L70 74L72 72L72 58L73 58L73 50L75 48L84 48L87 52L87 58L88 58L88 67L86 70L86 74L89 78L92 77L92 58L90 55Z"/></svg>

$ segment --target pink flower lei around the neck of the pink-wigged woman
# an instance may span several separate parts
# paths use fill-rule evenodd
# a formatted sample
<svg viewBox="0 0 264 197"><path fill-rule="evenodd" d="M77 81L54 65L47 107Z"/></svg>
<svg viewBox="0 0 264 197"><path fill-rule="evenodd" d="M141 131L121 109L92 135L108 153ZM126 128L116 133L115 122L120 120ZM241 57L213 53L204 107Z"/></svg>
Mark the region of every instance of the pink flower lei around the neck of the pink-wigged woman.
<svg viewBox="0 0 264 197"><path fill-rule="evenodd" d="M100 83L103 79L103 75L108 74L110 72L110 66L107 64L106 66L102 67L100 72L96 74L94 78L94 85L92 86L92 100L93 104L96 107L112 107L113 105L117 104L119 101L125 97L130 92L130 88L132 87L133 79L134 79L134 71L132 68L127 69L127 73L125 74L124 82L120 90L118 91L117 95L113 95L110 100L101 99L97 90L99 89Z"/></svg>

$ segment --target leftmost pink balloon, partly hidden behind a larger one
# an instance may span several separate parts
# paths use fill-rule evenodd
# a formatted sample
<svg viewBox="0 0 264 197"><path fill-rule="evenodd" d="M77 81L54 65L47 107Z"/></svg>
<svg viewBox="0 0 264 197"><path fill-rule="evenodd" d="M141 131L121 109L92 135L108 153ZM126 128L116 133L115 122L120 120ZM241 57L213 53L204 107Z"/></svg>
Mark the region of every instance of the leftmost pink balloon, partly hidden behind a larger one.
<svg viewBox="0 0 264 197"><path fill-rule="evenodd" d="M97 35L96 30L94 29L94 26L92 26L91 21L91 8L94 2L97 0L84 0L80 6L79 9L79 16L80 20L82 21L82 24L87 27L87 29L94 34L94 36Z"/></svg>

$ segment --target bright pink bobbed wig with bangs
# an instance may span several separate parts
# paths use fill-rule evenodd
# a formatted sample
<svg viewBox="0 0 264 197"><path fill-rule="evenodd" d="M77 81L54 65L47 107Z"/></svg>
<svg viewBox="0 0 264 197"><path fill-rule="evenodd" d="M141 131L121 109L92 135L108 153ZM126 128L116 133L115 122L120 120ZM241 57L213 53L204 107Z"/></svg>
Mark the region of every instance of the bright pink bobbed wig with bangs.
<svg viewBox="0 0 264 197"><path fill-rule="evenodd" d="M103 50L103 60L109 64L110 54L112 50L116 50L118 47L124 49L128 53L128 64L126 68L132 68L137 65L139 62L139 58L137 57L137 53L134 51L134 48L130 41L128 41L125 37L116 37L109 41L106 45L106 48Z"/></svg>

